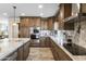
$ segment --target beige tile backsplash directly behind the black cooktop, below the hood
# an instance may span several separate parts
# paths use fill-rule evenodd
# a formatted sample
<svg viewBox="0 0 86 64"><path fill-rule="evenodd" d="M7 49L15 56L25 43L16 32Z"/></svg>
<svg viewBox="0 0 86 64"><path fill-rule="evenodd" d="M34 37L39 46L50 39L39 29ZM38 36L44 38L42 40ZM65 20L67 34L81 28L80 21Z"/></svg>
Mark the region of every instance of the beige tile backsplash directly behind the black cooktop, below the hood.
<svg viewBox="0 0 86 64"><path fill-rule="evenodd" d="M77 29L79 24L81 24L81 29L79 29L81 33L78 34ZM81 23L75 23L74 28L75 30L74 30L73 42L86 48L86 21L83 21Z"/></svg>

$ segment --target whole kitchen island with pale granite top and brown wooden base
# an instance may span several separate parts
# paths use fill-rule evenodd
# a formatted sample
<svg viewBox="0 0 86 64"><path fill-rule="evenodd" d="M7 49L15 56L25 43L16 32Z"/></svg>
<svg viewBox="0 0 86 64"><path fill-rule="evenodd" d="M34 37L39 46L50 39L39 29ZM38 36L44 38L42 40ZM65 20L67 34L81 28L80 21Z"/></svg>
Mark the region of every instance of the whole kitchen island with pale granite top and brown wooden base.
<svg viewBox="0 0 86 64"><path fill-rule="evenodd" d="M29 47L29 38L1 39L0 61L26 60L29 52L28 47Z"/></svg>

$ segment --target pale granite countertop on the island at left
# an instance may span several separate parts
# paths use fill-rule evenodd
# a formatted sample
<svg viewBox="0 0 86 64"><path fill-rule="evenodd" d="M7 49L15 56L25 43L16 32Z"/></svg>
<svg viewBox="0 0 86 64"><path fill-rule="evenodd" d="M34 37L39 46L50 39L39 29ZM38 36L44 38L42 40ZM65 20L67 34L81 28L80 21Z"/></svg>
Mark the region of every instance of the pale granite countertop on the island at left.
<svg viewBox="0 0 86 64"><path fill-rule="evenodd" d="M29 38L12 38L0 40L0 60L16 51L21 46L29 41Z"/></svg>

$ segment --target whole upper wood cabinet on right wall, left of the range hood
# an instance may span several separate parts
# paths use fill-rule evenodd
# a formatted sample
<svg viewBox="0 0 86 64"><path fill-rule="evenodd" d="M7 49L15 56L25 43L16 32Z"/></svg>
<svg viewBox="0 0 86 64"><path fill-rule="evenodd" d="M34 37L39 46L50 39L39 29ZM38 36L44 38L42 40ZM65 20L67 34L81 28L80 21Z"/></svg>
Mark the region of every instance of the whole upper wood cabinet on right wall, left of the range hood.
<svg viewBox="0 0 86 64"><path fill-rule="evenodd" d="M73 13L75 13L73 11ZM64 18L72 16L72 3L62 3L60 4L59 13L56 16L56 20L59 23L59 29L74 29L74 23L64 22Z"/></svg>

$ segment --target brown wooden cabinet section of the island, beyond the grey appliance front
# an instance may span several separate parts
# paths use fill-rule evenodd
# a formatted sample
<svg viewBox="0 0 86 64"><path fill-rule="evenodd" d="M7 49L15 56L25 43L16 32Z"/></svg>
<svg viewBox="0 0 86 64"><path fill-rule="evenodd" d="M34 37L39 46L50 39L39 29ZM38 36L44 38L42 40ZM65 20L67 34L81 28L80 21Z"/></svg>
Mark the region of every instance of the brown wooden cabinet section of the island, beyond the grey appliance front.
<svg viewBox="0 0 86 64"><path fill-rule="evenodd" d="M25 61L29 53L29 42L17 49L17 61Z"/></svg>

